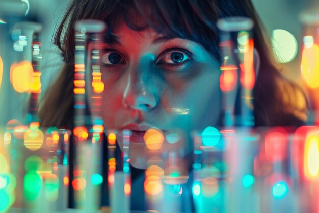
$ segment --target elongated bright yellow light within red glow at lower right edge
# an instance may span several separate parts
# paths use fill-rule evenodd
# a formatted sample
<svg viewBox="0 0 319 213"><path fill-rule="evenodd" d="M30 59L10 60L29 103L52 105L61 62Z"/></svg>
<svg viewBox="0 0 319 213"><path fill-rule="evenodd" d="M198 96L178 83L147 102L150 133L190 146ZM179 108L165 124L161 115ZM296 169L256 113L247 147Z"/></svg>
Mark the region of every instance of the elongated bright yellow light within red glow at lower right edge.
<svg viewBox="0 0 319 213"><path fill-rule="evenodd" d="M304 153L304 170L308 178L319 176L319 135L315 132L306 138Z"/></svg>

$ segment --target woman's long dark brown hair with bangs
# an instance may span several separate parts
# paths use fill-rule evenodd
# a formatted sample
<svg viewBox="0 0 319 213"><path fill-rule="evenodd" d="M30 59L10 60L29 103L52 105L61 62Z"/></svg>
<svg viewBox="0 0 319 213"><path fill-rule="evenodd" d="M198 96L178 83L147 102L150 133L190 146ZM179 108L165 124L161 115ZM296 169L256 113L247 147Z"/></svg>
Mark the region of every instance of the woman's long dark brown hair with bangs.
<svg viewBox="0 0 319 213"><path fill-rule="evenodd" d="M305 96L276 68L269 39L264 36L250 0L72 0L54 38L66 64L40 105L42 125L72 126L74 25L77 20L104 20L108 26L105 36L108 42L113 42L112 29L119 20L124 20L137 31L151 27L158 33L198 42L219 57L216 21L230 16L250 17L255 22L254 43L261 59L254 88L255 125L302 125L307 115ZM296 101L304 104L295 104Z"/></svg>

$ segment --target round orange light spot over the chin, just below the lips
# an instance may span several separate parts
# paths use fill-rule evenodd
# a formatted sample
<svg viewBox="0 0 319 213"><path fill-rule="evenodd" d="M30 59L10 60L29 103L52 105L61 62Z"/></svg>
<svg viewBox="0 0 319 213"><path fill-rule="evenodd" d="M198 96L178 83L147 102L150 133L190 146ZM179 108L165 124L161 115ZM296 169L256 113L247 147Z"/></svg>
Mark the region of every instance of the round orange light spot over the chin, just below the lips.
<svg viewBox="0 0 319 213"><path fill-rule="evenodd" d="M164 136L161 130L159 129L149 129L145 132L144 141L146 147L151 151L156 151L161 149L164 141Z"/></svg>

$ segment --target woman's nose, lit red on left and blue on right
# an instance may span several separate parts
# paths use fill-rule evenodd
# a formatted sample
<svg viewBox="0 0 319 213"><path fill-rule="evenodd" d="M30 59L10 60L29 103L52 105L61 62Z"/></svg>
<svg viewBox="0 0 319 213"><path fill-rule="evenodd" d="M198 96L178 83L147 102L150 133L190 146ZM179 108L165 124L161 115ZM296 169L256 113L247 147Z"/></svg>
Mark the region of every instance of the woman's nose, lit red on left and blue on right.
<svg viewBox="0 0 319 213"><path fill-rule="evenodd" d="M149 75L149 70L146 70L147 65L132 66L127 70L128 77L126 87L123 94L123 106L130 109L140 111L148 111L157 105L155 91L152 89Z"/></svg>

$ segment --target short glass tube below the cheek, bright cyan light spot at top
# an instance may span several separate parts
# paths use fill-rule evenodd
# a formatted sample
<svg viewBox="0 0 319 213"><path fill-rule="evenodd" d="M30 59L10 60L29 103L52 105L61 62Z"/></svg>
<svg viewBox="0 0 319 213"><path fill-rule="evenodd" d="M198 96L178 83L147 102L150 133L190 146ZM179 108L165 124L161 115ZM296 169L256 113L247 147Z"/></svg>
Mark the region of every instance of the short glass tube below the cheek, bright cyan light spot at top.
<svg viewBox="0 0 319 213"><path fill-rule="evenodd" d="M226 143L219 130L194 131L193 201L196 212L225 212L229 188Z"/></svg>

